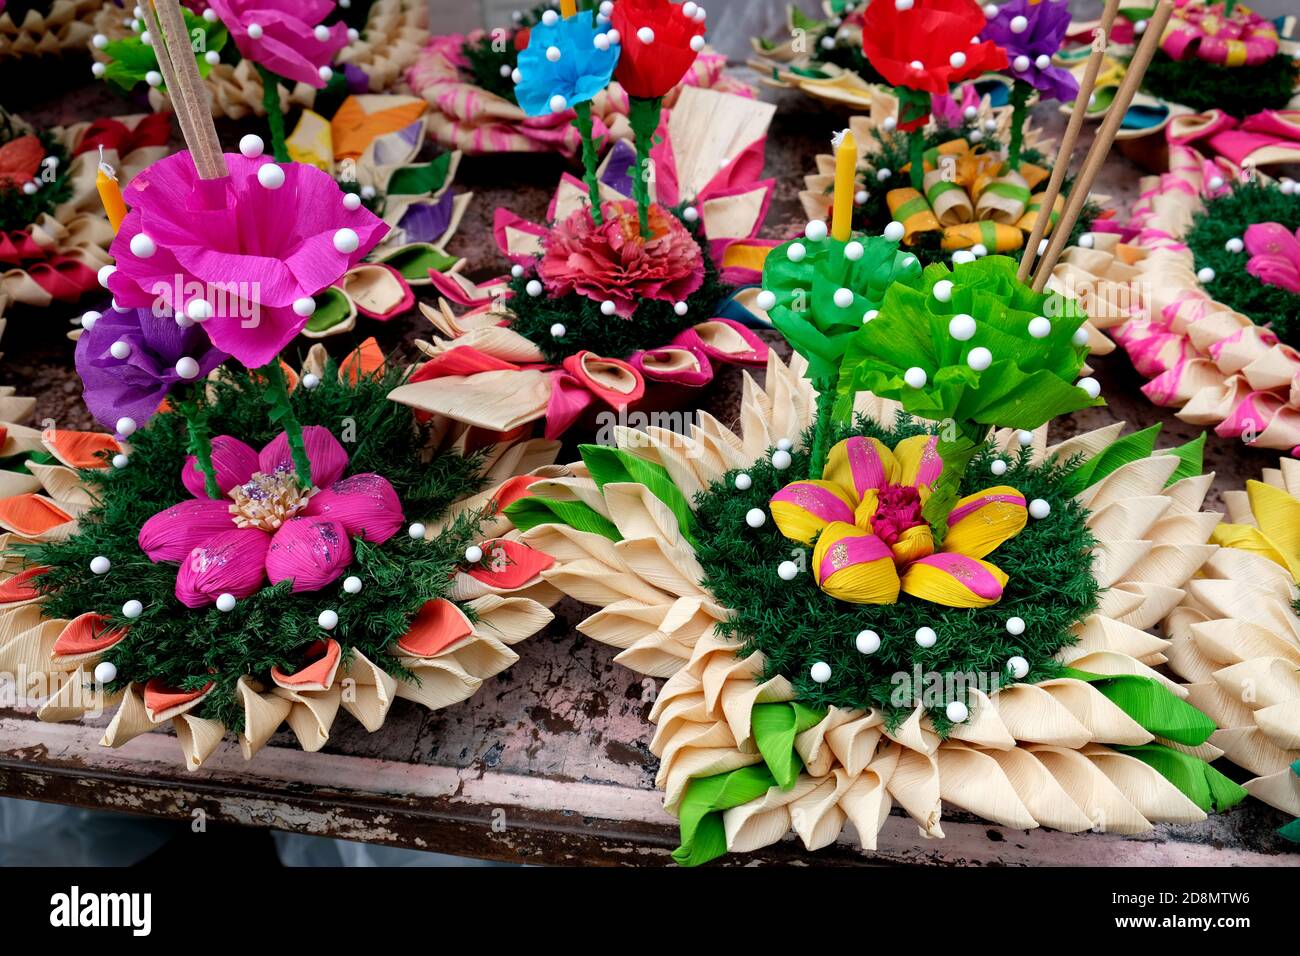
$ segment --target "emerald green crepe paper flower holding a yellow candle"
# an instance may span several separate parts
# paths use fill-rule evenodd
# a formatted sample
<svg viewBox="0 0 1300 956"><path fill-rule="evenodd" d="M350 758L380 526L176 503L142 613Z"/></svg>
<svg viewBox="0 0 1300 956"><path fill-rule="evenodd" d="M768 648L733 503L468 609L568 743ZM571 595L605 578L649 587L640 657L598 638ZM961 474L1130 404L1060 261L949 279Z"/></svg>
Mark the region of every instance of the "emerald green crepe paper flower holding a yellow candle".
<svg viewBox="0 0 1300 956"><path fill-rule="evenodd" d="M858 250L862 255L852 259ZM867 312L880 308L894 284L919 285L920 278L916 256L883 235L794 239L774 248L763 267L763 289L775 297L767 299L772 324L807 359L807 378L828 389L840 380L845 350ZM844 306L836 303L842 289L853 293Z"/></svg>

